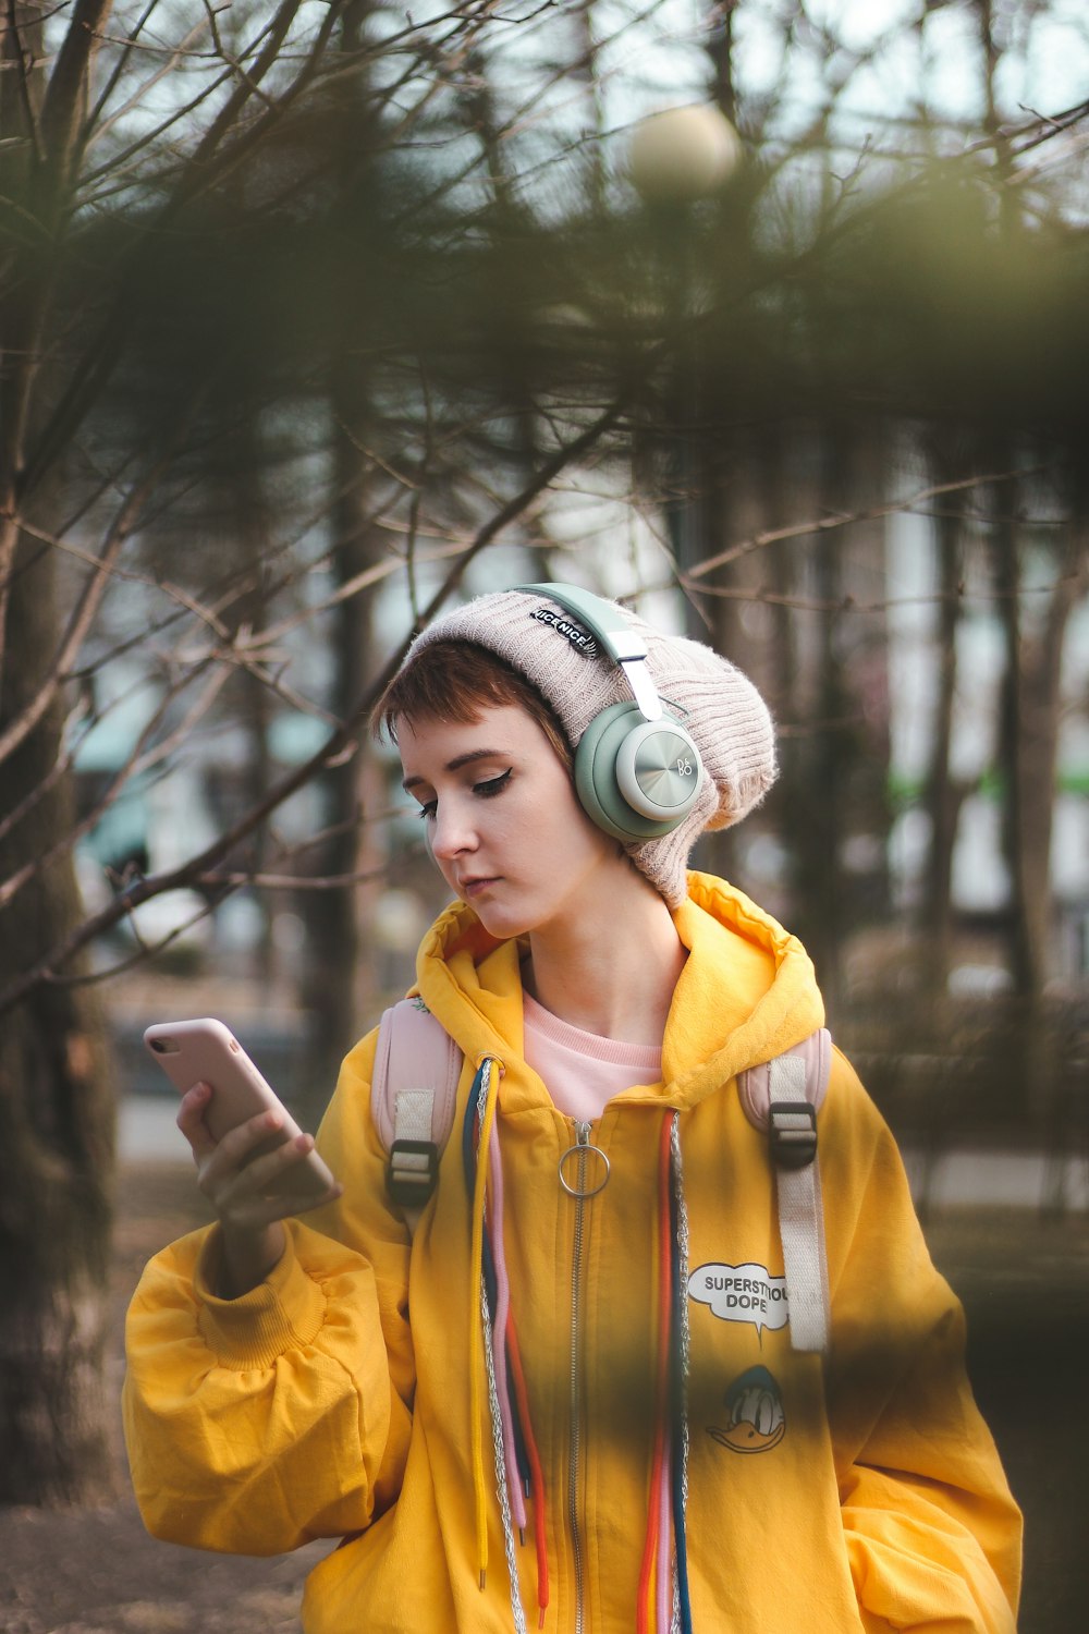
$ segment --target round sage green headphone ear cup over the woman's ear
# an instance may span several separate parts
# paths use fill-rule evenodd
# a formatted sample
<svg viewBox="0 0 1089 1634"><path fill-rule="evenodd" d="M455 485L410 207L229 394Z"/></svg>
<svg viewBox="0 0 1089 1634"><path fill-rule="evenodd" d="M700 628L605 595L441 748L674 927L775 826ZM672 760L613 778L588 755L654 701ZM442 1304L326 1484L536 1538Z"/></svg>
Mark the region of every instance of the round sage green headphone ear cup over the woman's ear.
<svg viewBox="0 0 1089 1634"><path fill-rule="evenodd" d="M614 840L673 833L699 796L696 743L669 716L647 721L635 703L594 716L575 750L575 789L586 815Z"/></svg>

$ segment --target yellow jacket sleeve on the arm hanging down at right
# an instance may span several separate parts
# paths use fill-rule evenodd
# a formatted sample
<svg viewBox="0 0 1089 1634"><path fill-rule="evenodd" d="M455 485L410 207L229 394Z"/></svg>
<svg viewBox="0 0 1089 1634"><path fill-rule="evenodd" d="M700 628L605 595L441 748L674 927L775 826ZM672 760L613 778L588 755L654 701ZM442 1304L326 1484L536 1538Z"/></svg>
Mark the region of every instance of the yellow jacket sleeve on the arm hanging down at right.
<svg viewBox="0 0 1089 1634"><path fill-rule="evenodd" d="M1020 1513L965 1371L896 1144L838 1059L821 1118L828 1412L867 1634L1014 1634Z"/></svg>

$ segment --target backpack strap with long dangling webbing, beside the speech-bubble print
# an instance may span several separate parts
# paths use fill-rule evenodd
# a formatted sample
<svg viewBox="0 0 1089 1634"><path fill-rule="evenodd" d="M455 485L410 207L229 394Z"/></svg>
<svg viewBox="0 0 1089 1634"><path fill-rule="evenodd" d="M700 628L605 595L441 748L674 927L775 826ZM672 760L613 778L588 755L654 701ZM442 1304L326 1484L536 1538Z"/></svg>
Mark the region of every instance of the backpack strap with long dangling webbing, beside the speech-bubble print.
<svg viewBox="0 0 1089 1634"><path fill-rule="evenodd" d="M738 1075L754 1129L766 1131L779 1194L779 1237L795 1350L828 1350L828 1257L816 1157L816 1114L831 1074L826 1028Z"/></svg>

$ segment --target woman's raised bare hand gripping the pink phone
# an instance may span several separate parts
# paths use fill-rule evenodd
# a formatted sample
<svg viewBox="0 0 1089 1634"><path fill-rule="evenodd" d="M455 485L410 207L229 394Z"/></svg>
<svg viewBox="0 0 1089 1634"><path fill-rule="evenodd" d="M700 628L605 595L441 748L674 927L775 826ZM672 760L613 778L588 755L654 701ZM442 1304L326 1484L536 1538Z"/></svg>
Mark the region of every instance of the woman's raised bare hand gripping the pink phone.
<svg viewBox="0 0 1089 1634"><path fill-rule="evenodd" d="M322 1203L333 1203L341 1196L343 1186L331 1186L323 1196L315 1196L313 1186L302 1183L292 1191L287 1178L292 1165L313 1150L313 1137L309 1134L253 1155L282 1126L282 1116L276 1111L258 1113L216 1141L204 1121L211 1098L211 1085L194 1083L181 1096L178 1127L193 1149L198 1186L220 1224L222 1268L216 1292L237 1299L263 1283L281 1260L286 1243L282 1221ZM286 1176L286 1183L271 1191L281 1176Z"/></svg>

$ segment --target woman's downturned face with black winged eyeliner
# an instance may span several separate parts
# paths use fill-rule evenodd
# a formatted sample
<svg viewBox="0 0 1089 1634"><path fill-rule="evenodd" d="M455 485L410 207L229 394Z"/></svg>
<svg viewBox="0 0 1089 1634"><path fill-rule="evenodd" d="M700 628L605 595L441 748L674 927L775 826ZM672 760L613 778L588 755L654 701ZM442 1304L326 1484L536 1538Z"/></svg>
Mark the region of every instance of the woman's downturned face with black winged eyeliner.
<svg viewBox="0 0 1089 1634"><path fill-rule="evenodd" d="M583 812L567 766L518 704L475 721L400 721L405 789L434 861L493 936L607 910L627 858Z"/></svg>

